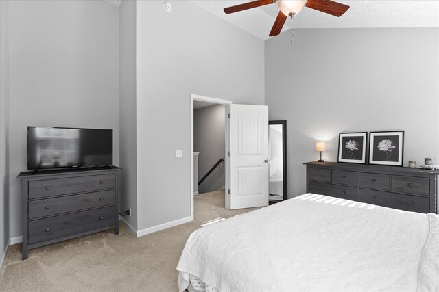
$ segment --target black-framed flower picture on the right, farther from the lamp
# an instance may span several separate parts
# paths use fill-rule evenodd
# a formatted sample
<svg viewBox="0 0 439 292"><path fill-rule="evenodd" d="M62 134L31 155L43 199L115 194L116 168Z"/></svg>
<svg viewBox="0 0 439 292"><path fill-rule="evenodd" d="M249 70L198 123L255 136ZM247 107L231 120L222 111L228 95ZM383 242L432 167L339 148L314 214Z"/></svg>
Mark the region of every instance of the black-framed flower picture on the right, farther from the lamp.
<svg viewBox="0 0 439 292"><path fill-rule="evenodd" d="M404 131L369 133L369 164L403 166Z"/></svg>

